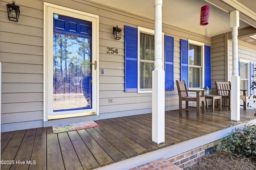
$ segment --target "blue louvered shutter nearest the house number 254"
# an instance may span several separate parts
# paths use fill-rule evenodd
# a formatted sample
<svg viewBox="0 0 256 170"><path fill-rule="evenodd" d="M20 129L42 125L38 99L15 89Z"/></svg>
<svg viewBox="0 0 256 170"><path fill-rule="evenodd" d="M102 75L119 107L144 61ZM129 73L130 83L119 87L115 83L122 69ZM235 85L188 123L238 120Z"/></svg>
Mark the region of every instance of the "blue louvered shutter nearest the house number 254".
<svg viewBox="0 0 256 170"><path fill-rule="evenodd" d="M138 91L138 29L124 26L124 91Z"/></svg>

